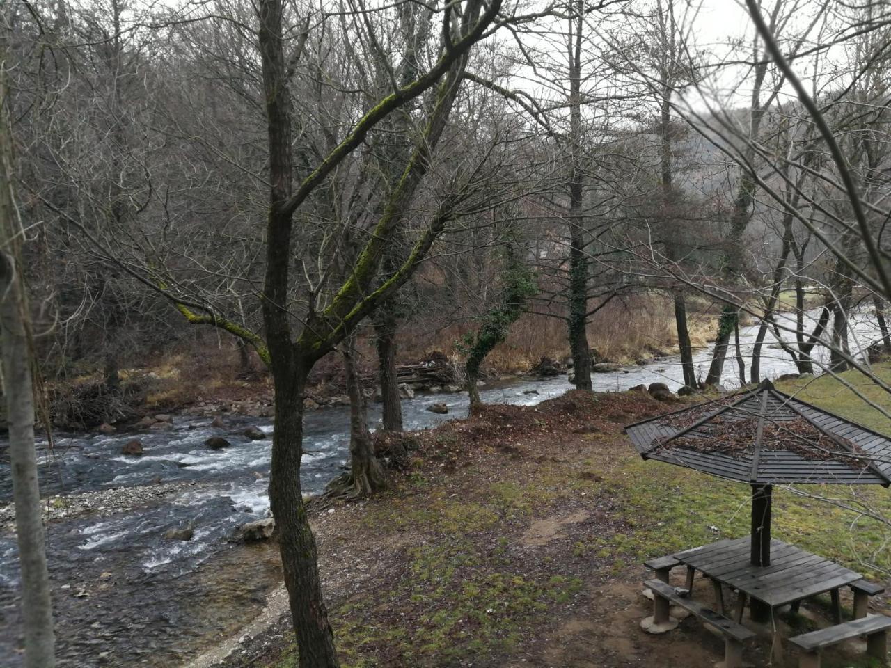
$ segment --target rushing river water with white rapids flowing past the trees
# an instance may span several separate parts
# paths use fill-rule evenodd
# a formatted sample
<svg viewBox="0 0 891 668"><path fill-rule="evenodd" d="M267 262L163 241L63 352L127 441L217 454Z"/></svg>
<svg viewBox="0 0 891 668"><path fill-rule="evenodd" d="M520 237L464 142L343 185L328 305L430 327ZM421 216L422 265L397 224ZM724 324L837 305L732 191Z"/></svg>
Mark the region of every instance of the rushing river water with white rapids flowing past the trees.
<svg viewBox="0 0 891 668"><path fill-rule="evenodd" d="M877 338L872 316L864 312L854 319L853 349ZM756 330L740 330L747 366ZM786 334L784 338L794 337ZM825 349L817 353L818 358L827 355ZM707 371L710 357L708 349L695 354L699 374ZM764 378L796 371L771 332L764 341L761 366ZM736 374L731 356L724 367L725 387L739 385ZM601 392L622 391L661 381L677 389L682 379L678 358L669 356L615 373L594 374L593 387ZM567 376L517 379L484 388L481 395L486 403L534 404L570 387ZM427 411L430 403L446 403L449 413ZM434 427L466 412L465 393L417 395L403 402L407 429ZM320 492L346 466L348 417L346 407L307 413L302 462L307 493ZM372 424L380 420L379 407L371 407L370 420ZM175 665L180 651L193 651L208 635L218 637L237 628L240 615L253 609L251 605L256 608L262 599L264 583L274 580L271 550L248 549L254 550L252 558L245 559L245 548L235 549L225 542L237 525L267 516L270 441L249 441L239 434L249 426L268 434L272 421L231 418L225 429L209 423L208 419L176 418L169 431L141 434L142 457L120 454L133 435L65 434L57 436L53 452L41 444L40 480L47 495L159 482L192 483L172 500L139 512L49 525L47 552L59 617L61 665ZM204 441L209 436L225 436L232 446L208 450ZM0 464L0 475L0 501L8 502L12 493L8 464ZM191 541L164 538L168 529L184 525L194 528ZM20 645L18 579L13 536L0 535L0 656L2 664L11 668L20 664L15 651ZM235 586L233 582L239 579L244 586ZM217 614L208 614L209 607L216 607Z"/></svg>

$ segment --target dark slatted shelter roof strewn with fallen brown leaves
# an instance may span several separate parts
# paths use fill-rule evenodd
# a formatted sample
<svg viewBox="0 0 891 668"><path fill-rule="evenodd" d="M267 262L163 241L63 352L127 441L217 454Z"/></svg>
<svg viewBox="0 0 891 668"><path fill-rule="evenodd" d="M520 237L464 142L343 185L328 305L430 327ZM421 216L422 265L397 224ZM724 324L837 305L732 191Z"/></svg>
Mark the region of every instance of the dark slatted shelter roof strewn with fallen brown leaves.
<svg viewBox="0 0 891 668"><path fill-rule="evenodd" d="M764 381L625 427L645 460L752 485L891 485L891 438Z"/></svg>

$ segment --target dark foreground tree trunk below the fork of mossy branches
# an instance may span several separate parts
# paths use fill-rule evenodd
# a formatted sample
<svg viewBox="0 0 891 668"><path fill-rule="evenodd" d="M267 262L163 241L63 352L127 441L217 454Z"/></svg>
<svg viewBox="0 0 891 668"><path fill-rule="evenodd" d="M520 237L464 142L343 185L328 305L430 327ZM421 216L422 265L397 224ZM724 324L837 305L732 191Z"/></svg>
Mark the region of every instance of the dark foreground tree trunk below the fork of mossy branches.
<svg viewBox="0 0 891 668"><path fill-rule="evenodd" d="M302 361L298 361L302 362ZM282 366L285 366L282 369ZM334 635L319 580L315 538L300 485L303 391L307 372L273 360L275 430L269 501L282 553L284 583L297 635L300 668L338 668Z"/></svg>

